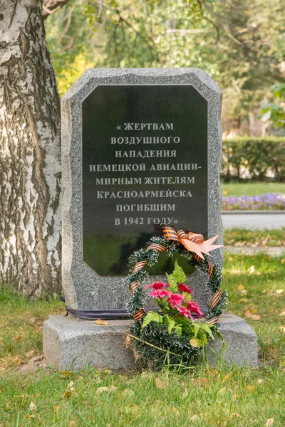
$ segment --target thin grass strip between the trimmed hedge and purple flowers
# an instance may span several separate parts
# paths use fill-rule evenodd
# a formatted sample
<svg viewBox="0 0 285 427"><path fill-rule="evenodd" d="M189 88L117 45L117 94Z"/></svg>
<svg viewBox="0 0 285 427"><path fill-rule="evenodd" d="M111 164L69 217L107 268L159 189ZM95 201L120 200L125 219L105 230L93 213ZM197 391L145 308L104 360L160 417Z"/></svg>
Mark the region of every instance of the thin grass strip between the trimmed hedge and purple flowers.
<svg viewBox="0 0 285 427"><path fill-rule="evenodd" d="M260 196L265 193L285 194L285 183L283 182L222 182L223 196Z"/></svg>

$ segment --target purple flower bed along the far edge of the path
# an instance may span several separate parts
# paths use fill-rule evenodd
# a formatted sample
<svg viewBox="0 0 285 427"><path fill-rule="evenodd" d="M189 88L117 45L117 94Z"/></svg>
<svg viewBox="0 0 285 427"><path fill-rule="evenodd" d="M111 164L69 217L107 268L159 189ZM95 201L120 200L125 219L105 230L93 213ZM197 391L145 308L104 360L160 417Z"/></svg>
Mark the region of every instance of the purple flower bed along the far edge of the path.
<svg viewBox="0 0 285 427"><path fill-rule="evenodd" d="M222 211L285 210L285 195L266 193L261 196L223 197Z"/></svg>

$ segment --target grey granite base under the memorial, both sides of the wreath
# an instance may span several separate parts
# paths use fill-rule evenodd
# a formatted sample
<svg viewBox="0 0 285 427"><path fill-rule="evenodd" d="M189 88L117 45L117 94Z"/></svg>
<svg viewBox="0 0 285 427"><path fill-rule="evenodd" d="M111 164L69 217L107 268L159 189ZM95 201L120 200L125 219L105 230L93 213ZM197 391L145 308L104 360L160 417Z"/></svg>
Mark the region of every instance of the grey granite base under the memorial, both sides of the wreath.
<svg viewBox="0 0 285 427"><path fill-rule="evenodd" d="M48 365L55 369L80 370L92 367L135 369L135 358L125 347L125 332L132 320L109 320L108 325L95 325L93 321L77 321L63 315L51 315L43 323L43 353ZM209 343L209 363L217 364L222 357L229 364L257 366L257 335L243 319L234 315L220 317L220 332L227 349L220 352L219 339Z"/></svg>

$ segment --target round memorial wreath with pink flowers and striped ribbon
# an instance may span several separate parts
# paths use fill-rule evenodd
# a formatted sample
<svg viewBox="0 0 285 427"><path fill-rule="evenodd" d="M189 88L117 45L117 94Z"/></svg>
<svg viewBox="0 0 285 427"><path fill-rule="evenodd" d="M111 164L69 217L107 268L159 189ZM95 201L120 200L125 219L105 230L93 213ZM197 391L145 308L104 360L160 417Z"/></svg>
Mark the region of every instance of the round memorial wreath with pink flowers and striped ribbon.
<svg viewBox="0 0 285 427"><path fill-rule="evenodd" d="M214 339L214 335L222 338L219 316L227 306L227 290L220 289L221 268L209 261L209 252L222 246L212 244L217 236L204 241L202 234L175 231L173 227L164 227L163 235L152 237L146 249L131 255L130 274L125 278L131 293L127 308L135 320L130 327L128 345L143 366L153 369L160 369L165 362L171 365L195 362L209 338ZM192 291L184 283L186 275L177 260L172 274L166 273L168 283L145 286L149 275L144 268L155 265L162 252L168 257L179 253L195 270L207 273L206 290L211 302L204 315L192 301ZM145 309L147 288L151 289L148 295L155 298L158 310Z"/></svg>

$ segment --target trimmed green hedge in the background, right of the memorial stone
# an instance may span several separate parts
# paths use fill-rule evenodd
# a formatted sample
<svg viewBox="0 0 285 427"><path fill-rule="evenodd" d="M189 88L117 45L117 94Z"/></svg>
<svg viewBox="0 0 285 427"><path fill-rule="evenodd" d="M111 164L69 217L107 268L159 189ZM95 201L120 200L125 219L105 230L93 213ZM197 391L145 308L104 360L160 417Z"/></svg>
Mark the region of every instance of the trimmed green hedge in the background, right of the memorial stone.
<svg viewBox="0 0 285 427"><path fill-rule="evenodd" d="M221 176L257 181L271 176L274 181L285 181L285 137L224 139Z"/></svg>

